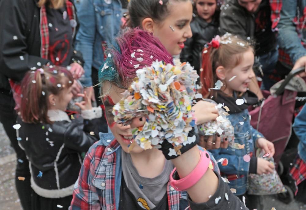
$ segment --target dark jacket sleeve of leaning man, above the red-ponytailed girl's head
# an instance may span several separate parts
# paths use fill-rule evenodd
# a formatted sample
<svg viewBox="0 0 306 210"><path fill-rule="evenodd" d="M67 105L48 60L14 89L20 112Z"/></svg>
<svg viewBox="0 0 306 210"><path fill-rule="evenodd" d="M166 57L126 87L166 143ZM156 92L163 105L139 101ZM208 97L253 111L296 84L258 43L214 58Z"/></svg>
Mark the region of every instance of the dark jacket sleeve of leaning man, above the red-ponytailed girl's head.
<svg viewBox="0 0 306 210"><path fill-rule="evenodd" d="M233 13L235 15L233 15ZM245 19L242 17L243 15L237 9L223 9L220 13L221 35L229 32L239 35L243 39L246 39L248 35L243 24Z"/></svg>

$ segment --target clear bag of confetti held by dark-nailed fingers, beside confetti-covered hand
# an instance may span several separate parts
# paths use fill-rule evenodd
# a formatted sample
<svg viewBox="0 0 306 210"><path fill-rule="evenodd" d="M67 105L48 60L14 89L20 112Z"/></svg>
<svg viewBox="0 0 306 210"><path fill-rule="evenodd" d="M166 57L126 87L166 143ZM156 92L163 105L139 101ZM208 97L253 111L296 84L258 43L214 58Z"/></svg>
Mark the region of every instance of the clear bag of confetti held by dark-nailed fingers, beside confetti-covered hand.
<svg viewBox="0 0 306 210"><path fill-rule="evenodd" d="M215 135L218 133L221 137L221 141L227 138L229 141L229 146L233 146L234 127L232 126L230 120L226 118L226 115L228 114L222 109L222 106L220 106L222 104L219 105L211 99L203 100L214 103L216 105L216 109L218 109L219 112L219 117L216 120L198 125L199 134L204 136L204 141L207 141L208 137L213 136L212 142L215 142Z"/></svg>

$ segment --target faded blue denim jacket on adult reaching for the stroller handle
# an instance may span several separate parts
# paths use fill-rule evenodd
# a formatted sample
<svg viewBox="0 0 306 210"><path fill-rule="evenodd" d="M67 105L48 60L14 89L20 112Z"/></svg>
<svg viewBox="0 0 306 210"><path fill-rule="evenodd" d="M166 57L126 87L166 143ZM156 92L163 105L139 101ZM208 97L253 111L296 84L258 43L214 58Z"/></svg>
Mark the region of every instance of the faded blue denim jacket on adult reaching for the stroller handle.
<svg viewBox="0 0 306 210"><path fill-rule="evenodd" d="M270 0L271 1L271 0ZM277 41L282 50L289 54L291 62L294 64L300 57L306 55L306 49L301 41L306 38L305 21L306 0L278 0L282 4L280 13L275 11L274 22L278 22ZM277 17L275 16L275 17ZM274 24L276 27L276 24ZM302 28L303 27L303 28ZM305 41L304 41L305 42Z"/></svg>

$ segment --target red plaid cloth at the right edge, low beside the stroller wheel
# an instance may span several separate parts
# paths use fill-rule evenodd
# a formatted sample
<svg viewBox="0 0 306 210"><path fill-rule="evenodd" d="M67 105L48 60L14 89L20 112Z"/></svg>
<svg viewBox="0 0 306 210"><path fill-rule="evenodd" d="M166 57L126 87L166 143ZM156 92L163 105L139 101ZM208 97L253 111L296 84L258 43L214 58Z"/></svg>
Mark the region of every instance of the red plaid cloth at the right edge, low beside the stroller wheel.
<svg viewBox="0 0 306 210"><path fill-rule="evenodd" d="M291 168L289 175L295 181L295 195L297 195L298 185L306 179L306 163L297 157L294 166Z"/></svg>

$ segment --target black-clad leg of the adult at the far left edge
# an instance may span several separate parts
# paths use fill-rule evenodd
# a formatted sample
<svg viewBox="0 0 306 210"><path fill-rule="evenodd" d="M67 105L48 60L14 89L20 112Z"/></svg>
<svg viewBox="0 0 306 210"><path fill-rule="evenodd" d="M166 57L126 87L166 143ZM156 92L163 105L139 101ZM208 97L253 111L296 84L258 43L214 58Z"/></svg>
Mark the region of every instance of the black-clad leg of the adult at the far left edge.
<svg viewBox="0 0 306 210"><path fill-rule="evenodd" d="M19 147L16 130L13 125L16 124L17 114L14 110L15 102L13 96L4 93L0 89L0 122L3 124L4 130L11 141L11 146L17 154L17 167L15 173L15 184L17 193L24 210L31 210L31 184L30 184L30 170L29 162L25 156L24 151ZM17 177L24 177L24 181L19 181Z"/></svg>

